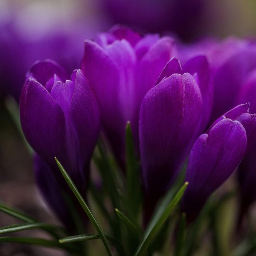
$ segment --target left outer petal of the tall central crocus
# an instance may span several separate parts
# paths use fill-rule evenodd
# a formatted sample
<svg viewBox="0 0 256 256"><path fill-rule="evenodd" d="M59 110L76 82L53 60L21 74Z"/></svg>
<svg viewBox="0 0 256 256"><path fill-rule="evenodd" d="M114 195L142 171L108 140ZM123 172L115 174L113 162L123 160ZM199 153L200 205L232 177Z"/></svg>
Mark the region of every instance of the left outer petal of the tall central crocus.
<svg viewBox="0 0 256 256"><path fill-rule="evenodd" d="M105 133L120 157L124 155L126 123L120 107L123 105L120 90L124 88L119 84L119 70L101 47L85 41L82 71L99 103Z"/></svg>

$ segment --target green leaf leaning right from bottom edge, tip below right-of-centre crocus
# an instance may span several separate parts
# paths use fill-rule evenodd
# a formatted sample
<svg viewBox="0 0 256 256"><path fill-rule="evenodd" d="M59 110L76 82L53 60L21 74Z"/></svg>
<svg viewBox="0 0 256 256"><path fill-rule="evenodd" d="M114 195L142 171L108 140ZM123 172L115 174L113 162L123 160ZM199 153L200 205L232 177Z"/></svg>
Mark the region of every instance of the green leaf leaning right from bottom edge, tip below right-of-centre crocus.
<svg viewBox="0 0 256 256"><path fill-rule="evenodd" d="M144 239L138 247L136 256L142 256L145 254L146 250L148 249L148 246L154 240L155 236L157 236L157 233L160 231L161 227L163 227L163 224L171 214L172 210L182 198L187 186L188 182L185 182L185 184L181 187L179 192L177 192L177 195L175 195L175 198L172 199L172 201L164 210L163 214L160 216L160 218L158 218L154 227L152 227L151 230L148 230L148 233L145 233Z"/></svg>

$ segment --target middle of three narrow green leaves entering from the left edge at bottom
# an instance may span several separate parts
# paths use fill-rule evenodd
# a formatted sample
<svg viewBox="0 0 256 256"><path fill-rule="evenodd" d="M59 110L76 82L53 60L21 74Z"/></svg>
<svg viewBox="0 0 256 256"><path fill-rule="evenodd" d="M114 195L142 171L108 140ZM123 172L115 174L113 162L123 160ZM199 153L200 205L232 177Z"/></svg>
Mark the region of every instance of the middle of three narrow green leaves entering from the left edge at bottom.
<svg viewBox="0 0 256 256"><path fill-rule="evenodd" d="M18 224L18 225L12 225L12 226L6 226L6 227L1 227L0 228L0 234L4 233L13 233L13 232L18 232L18 231L23 231L23 230L29 230L33 228L45 228L45 229L55 229L55 226L45 224L45 223L24 223L24 224Z"/></svg>

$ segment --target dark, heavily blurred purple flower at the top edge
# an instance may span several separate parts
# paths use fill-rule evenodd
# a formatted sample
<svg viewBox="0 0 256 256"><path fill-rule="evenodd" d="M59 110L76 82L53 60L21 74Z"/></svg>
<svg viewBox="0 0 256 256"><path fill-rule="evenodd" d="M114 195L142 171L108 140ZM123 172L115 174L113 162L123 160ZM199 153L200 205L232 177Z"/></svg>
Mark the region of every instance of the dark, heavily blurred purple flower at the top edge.
<svg viewBox="0 0 256 256"><path fill-rule="evenodd" d="M204 0L102 0L114 23L146 32L172 31L195 38L204 14Z"/></svg>

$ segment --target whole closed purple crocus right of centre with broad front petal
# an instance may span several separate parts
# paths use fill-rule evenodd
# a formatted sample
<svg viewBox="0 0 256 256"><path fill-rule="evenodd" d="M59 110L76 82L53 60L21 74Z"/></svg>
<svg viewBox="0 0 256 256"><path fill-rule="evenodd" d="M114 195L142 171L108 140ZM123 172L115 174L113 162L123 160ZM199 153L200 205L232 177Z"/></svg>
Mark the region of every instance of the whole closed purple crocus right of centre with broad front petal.
<svg viewBox="0 0 256 256"><path fill-rule="evenodd" d="M194 75L194 76L193 76ZM172 58L140 108L140 155L145 190L158 199L180 170L212 106L207 59L197 56L183 67Z"/></svg>

